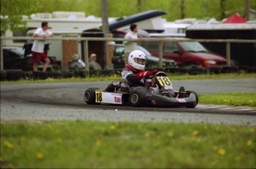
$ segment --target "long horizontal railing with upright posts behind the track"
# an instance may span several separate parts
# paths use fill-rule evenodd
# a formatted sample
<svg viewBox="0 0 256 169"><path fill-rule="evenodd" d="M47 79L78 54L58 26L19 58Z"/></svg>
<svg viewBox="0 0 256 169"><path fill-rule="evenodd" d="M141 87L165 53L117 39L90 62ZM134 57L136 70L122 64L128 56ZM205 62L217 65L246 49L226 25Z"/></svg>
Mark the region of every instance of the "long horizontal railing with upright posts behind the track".
<svg viewBox="0 0 256 169"><path fill-rule="evenodd" d="M36 40L42 38L33 38L33 37L5 37L1 36L1 70L4 69L3 67L3 47L7 46L4 41L8 40ZM45 39L44 39L45 40ZM83 50L85 51L85 64L88 65L89 63L89 53L88 53L88 42L90 41L101 41L101 42L159 42L159 67L163 67L163 42L224 42L226 43L226 59L227 59L227 66L231 64L231 56L230 56L230 44L231 43L254 43L256 45L256 39L248 40L248 39L186 39L186 38L141 38L141 39L122 39L122 38L93 38L93 37L52 37L47 38L47 41L62 41L62 40L74 40L77 42L84 42L83 43ZM105 57L108 58L108 53L105 52ZM107 59L106 59L107 60ZM107 63L108 65L109 63ZM89 67L86 67L86 70L89 70Z"/></svg>

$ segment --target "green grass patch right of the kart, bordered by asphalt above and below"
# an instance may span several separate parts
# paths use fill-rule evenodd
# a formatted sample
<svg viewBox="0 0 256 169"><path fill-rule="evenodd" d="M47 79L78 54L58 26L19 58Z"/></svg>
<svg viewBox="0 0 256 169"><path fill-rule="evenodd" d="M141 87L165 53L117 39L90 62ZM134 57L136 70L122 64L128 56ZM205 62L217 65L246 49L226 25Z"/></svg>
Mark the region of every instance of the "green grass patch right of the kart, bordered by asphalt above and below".
<svg viewBox="0 0 256 169"><path fill-rule="evenodd" d="M214 93L199 96L200 103L256 107L256 93Z"/></svg>

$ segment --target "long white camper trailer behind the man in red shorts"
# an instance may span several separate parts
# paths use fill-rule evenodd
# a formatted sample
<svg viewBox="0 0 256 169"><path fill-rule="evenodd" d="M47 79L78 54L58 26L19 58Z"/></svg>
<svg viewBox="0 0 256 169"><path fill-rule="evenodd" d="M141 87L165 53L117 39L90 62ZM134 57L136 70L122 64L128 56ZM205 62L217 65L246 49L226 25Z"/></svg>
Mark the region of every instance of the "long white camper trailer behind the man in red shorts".
<svg viewBox="0 0 256 169"><path fill-rule="evenodd" d="M22 16L24 21L27 21L27 29L22 31L7 30L4 33L6 37L27 36L27 33L41 27L42 21L49 23L49 28L54 30L61 30L65 32L77 32L78 30L88 30L98 28L102 23L101 18L95 16L85 16L84 12L53 12L53 13L36 13L30 16ZM110 18L109 21L113 19ZM29 33L30 34L30 33ZM4 45L13 47L22 47L25 40L7 40Z"/></svg>

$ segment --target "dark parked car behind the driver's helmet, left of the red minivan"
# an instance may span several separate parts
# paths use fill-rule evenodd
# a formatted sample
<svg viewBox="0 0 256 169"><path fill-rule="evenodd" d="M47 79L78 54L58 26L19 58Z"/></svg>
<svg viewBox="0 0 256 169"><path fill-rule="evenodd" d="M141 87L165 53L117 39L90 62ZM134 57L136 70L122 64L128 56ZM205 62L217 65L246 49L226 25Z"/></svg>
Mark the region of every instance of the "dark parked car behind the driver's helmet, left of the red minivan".
<svg viewBox="0 0 256 169"><path fill-rule="evenodd" d="M152 56L151 53L148 52L144 47L137 45L137 50L142 50L145 53L147 58L146 68L157 68L159 67L159 58L156 56ZM121 69L125 67L125 45L124 44L114 44L114 57L112 62L114 64L114 69ZM176 62L172 59L163 59L163 67L165 68L174 68L177 67Z"/></svg>

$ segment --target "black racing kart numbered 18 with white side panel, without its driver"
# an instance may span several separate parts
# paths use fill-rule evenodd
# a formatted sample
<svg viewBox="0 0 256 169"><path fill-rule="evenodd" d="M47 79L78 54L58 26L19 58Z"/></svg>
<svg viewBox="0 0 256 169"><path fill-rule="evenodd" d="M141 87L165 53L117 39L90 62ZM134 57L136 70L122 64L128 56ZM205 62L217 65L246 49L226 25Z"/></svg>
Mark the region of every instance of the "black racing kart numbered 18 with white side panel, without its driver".
<svg viewBox="0 0 256 169"><path fill-rule="evenodd" d="M142 79L143 86L129 87L127 82L112 82L105 90L91 87L85 90L84 99L88 105L114 104L134 107L196 107L198 95L192 90L180 87L174 91L170 79L164 72L155 73L149 79Z"/></svg>

